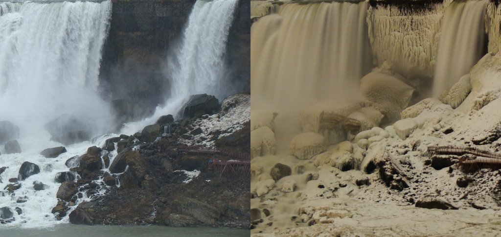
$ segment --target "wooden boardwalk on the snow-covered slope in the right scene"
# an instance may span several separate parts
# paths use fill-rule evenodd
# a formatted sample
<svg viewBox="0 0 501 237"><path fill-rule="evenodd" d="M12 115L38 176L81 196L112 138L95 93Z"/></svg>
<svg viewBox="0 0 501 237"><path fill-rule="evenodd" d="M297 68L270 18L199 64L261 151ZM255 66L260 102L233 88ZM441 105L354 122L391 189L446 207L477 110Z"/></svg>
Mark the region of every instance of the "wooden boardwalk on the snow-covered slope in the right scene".
<svg viewBox="0 0 501 237"><path fill-rule="evenodd" d="M473 147L460 146L429 146L428 155L453 155L459 160L459 165L464 172L474 172L480 168L501 168L501 154L480 150ZM467 158L463 155L470 154L474 158Z"/></svg>

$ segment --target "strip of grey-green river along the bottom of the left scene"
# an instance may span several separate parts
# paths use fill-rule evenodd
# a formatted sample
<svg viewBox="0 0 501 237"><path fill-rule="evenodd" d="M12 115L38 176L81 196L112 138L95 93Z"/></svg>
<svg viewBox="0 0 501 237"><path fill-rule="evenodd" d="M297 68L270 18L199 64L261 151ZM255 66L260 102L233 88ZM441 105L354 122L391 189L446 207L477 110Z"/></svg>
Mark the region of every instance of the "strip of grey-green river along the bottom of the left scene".
<svg viewBox="0 0 501 237"><path fill-rule="evenodd" d="M211 227L117 226L59 224L50 228L0 228L0 236L249 236L248 229Z"/></svg>

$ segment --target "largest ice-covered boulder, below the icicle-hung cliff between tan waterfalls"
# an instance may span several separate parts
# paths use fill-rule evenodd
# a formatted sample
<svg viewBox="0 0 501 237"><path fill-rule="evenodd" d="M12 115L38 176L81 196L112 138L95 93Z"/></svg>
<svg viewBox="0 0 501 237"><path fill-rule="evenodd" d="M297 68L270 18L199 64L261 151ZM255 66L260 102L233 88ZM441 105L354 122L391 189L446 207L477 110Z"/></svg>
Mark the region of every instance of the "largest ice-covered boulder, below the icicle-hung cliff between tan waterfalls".
<svg viewBox="0 0 501 237"><path fill-rule="evenodd" d="M369 101L378 106L385 121L400 119L400 112L407 107L414 94L414 88L399 79L377 72L365 75L360 89Z"/></svg>

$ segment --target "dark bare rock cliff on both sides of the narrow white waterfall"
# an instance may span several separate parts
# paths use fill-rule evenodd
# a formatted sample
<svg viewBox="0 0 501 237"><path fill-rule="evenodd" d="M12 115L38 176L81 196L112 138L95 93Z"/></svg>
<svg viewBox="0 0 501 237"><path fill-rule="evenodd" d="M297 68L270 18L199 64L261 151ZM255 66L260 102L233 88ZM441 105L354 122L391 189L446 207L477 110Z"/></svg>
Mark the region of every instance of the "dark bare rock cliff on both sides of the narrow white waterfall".
<svg viewBox="0 0 501 237"><path fill-rule="evenodd" d="M162 75L169 47L178 43L196 0L113 0L103 49L100 81L108 100L136 101L150 112L168 96ZM233 82L248 93L250 7L240 0L228 36L227 61Z"/></svg>

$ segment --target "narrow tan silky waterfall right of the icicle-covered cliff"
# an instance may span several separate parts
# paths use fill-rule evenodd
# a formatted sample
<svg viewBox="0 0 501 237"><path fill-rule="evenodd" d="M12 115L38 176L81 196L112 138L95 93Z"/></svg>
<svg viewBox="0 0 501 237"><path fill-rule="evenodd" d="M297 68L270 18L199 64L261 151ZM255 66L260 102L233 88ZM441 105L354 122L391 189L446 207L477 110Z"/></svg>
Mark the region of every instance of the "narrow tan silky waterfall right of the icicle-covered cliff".
<svg viewBox="0 0 501 237"><path fill-rule="evenodd" d="M433 96L438 98L483 56L487 1L452 2L445 10L438 43Z"/></svg>

